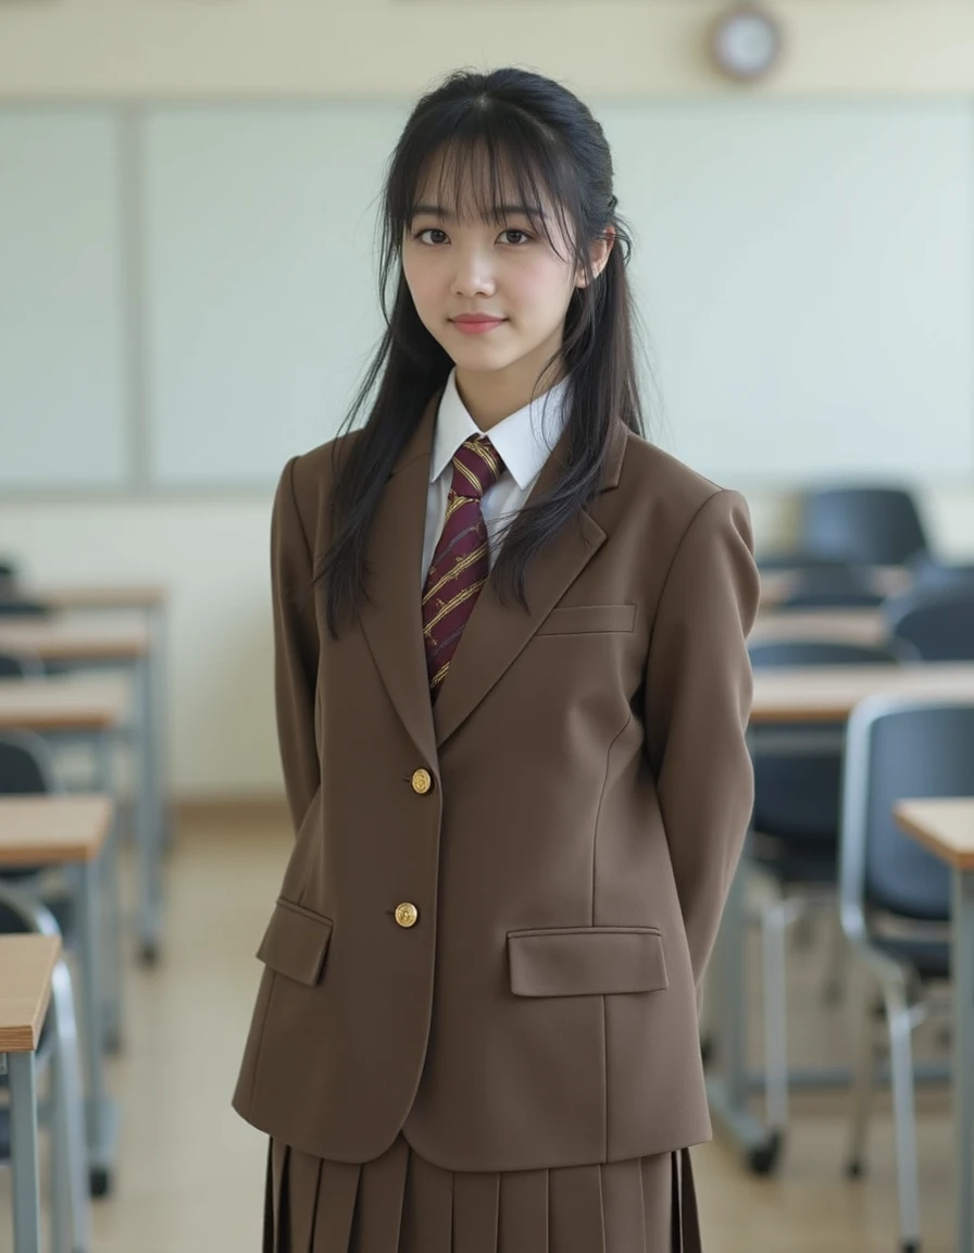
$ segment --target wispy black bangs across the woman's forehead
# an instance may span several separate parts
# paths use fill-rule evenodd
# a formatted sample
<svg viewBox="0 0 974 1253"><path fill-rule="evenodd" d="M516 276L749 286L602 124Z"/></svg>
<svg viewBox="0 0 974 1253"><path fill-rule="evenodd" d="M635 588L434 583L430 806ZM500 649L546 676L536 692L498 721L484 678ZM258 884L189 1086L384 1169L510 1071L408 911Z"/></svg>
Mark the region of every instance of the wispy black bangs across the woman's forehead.
<svg viewBox="0 0 974 1253"><path fill-rule="evenodd" d="M555 252L565 241L577 253L581 204L556 144L537 122L491 103L456 117L417 119L403 137L389 178L393 238L402 239L418 212L441 211L462 223L500 226L527 217Z"/></svg>

